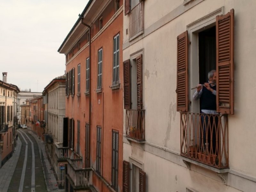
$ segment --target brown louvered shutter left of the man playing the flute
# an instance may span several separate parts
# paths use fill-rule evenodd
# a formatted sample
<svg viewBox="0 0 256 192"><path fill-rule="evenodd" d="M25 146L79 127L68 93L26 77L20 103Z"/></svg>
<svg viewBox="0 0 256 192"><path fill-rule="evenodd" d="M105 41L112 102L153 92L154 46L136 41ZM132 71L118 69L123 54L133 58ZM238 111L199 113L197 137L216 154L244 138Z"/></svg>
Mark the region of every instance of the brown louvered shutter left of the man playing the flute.
<svg viewBox="0 0 256 192"><path fill-rule="evenodd" d="M177 37L177 111L188 111L188 31Z"/></svg>

